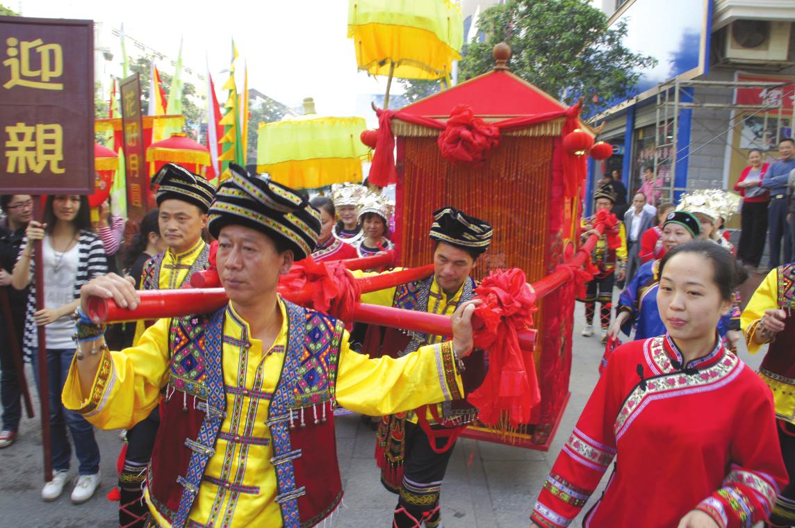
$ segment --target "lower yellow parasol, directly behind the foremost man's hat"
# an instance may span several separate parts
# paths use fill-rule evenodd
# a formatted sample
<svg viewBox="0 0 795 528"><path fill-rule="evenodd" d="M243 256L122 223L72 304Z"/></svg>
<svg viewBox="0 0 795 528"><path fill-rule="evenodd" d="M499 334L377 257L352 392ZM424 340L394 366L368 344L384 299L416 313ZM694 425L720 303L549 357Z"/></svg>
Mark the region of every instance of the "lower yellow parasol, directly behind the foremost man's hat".
<svg viewBox="0 0 795 528"><path fill-rule="evenodd" d="M307 113L284 121L261 123L257 138L257 170L293 188L318 188L362 181L368 149L359 139L364 118L321 117L311 98Z"/></svg>

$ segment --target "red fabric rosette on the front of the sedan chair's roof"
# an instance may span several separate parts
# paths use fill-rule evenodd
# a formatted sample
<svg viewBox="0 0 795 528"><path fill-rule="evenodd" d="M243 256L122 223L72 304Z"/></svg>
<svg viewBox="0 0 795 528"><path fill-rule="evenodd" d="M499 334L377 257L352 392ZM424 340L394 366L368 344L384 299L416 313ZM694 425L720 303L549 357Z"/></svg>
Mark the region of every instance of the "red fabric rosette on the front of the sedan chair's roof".
<svg viewBox="0 0 795 528"><path fill-rule="evenodd" d="M457 104L438 138L439 151L453 164L483 163L499 144L499 129L475 117L468 104Z"/></svg>

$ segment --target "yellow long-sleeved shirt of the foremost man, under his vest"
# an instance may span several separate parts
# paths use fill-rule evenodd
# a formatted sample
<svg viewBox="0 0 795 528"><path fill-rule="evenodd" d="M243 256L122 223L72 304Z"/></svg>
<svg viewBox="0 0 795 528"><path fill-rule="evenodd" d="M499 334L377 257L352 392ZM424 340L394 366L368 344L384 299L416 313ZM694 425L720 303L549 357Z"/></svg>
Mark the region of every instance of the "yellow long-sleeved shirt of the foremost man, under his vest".
<svg viewBox="0 0 795 528"><path fill-rule="evenodd" d="M223 487L203 480L189 514L191 521L202 526L220 526L227 514L234 515L228 526L281 526L281 511L274 502L276 475L270 464L273 449L266 426L270 401L243 395L253 391L272 393L276 389L285 360L289 326L285 305L281 301L279 304L281 331L267 350L261 341L247 337L250 336L248 325L236 315L232 305L227 309L223 333L232 339L223 342L223 382L227 387L241 387L247 391L227 390L230 412L224 417L215 442L215 454L207 462L204 476L256 487L258 493L233 496ZM144 332L135 347L103 352L89 394L83 394L76 363L72 363L64 386L64 406L80 410L88 421L102 429L130 427L148 416L160 401L161 388L169 380L169 324L168 319L157 321ZM246 341L249 347L238 345ZM463 393L458 375L455 386L449 385L445 376L446 369L455 371L454 363L449 342L421 347L400 359L370 359L349 349L346 332L340 345L336 400L346 409L370 415L397 413L425 403L449 400ZM181 396L177 392L173 397ZM261 442L260 445L245 444L223 438L235 435L257 438ZM175 441L181 444L183 439ZM244 449L246 453L242 455ZM145 496L149 501L149 495ZM149 510L161 526L169 526L151 505Z"/></svg>

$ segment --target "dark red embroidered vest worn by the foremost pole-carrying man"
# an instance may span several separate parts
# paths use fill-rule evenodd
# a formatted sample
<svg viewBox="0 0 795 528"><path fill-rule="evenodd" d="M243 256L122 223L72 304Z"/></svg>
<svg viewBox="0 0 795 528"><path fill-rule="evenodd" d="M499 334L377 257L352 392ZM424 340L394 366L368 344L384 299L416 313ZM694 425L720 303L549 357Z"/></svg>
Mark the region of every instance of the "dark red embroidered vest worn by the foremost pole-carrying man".
<svg viewBox="0 0 795 528"><path fill-rule="evenodd" d="M281 520L286 528L302 528L328 517L343 496L333 409L344 325L284 302L287 349L266 425ZM153 506L175 527L188 523L227 413L222 367L225 314L226 308L211 316L174 318L169 329L168 397L146 485Z"/></svg>

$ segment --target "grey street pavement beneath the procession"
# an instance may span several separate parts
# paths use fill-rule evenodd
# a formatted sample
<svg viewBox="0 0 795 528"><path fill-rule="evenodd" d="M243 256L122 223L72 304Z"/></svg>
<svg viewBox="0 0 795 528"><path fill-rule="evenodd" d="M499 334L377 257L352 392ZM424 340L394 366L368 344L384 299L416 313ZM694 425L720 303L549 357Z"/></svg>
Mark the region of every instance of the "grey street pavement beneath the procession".
<svg viewBox="0 0 795 528"><path fill-rule="evenodd" d="M583 326L583 305L577 303L569 384L572 398L549 452L460 439L442 486L444 526L529 526L533 503L598 379L603 347L598 334L580 336ZM753 368L762 359L762 354L748 355L743 344L739 355ZM358 415L337 417L336 430L345 498L333 526L391 526L397 499L379 483L373 460L373 431L359 421ZM103 483L95 498L80 506L72 505L70 485L60 499L44 503L40 497L43 476L38 419L23 420L17 443L0 450L0 528L118 526L118 503L111 503L105 495L115 484L116 459L122 442L118 431L97 431L96 437L102 452ZM72 476L76 476L76 470L73 459ZM603 484L606 480L607 476ZM599 498L601 489L594 493L593 500ZM583 511L588 511L593 500ZM578 518L572 526L579 525Z"/></svg>

